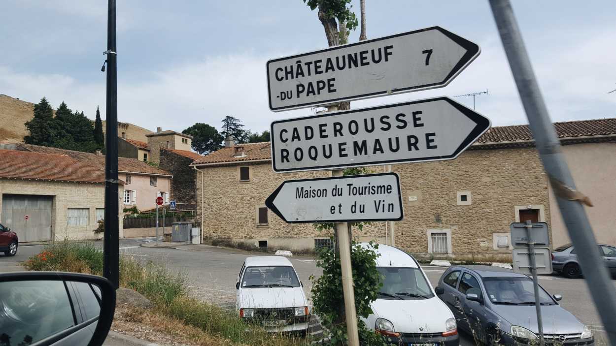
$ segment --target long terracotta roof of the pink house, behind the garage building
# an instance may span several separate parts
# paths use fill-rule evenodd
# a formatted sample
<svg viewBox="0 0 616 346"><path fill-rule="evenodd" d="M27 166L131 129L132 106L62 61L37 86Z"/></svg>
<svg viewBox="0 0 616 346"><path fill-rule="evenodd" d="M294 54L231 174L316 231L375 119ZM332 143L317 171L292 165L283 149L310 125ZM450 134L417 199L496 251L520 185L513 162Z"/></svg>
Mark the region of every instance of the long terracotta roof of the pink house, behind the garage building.
<svg viewBox="0 0 616 346"><path fill-rule="evenodd" d="M90 166L98 167L104 172L105 169L105 156L96 155L93 153L84 153L83 151L65 150L59 148L43 147L41 145L31 145L20 143L20 147L25 148L28 151L35 151L38 153L51 153L59 155L67 155L71 158L78 159L79 161L89 164ZM120 172L133 172L142 174L160 174L169 175L171 172L165 171L158 167L150 166L149 164L132 158L118 158L118 171Z"/></svg>

